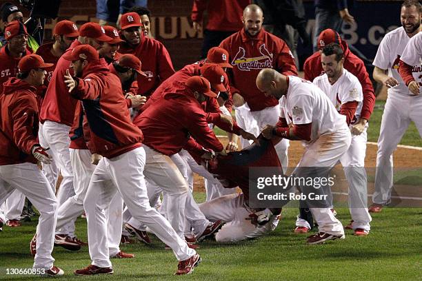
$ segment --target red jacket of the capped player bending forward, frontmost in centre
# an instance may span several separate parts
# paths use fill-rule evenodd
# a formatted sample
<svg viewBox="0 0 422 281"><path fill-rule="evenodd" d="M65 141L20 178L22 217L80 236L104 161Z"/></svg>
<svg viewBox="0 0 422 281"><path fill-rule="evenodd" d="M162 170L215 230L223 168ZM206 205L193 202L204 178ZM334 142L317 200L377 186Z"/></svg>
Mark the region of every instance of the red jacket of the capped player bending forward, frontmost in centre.
<svg viewBox="0 0 422 281"><path fill-rule="evenodd" d="M143 143L171 156L187 145L190 135L203 147L221 152L223 145L208 127L201 105L191 92L163 94L134 118L143 132Z"/></svg>

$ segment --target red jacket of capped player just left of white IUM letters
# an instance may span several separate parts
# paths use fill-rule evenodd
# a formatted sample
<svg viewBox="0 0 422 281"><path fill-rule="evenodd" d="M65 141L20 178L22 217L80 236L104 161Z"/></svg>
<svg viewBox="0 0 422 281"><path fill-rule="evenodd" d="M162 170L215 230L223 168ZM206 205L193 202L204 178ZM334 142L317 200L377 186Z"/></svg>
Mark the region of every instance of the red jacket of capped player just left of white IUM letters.
<svg viewBox="0 0 422 281"><path fill-rule="evenodd" d="M147 76L138 75L138 94L150 96L165 79L174 74L174 68L170 54L161 42L143 36L142 32L140 36L141 43L136 48L123 42L119 52L133 54L141 60L142 71Z"/></svg>

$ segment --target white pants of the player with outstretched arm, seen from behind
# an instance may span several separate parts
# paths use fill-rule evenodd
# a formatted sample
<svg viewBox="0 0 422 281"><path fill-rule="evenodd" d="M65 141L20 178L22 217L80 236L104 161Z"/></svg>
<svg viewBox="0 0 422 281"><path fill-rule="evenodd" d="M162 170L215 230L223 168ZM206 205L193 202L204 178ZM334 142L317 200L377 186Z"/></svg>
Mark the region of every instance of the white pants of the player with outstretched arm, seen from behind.
<svg viewBox="0 0 422 281"><path fill-rule="evenodd" d="M154 157L154 154L150 154ZM157 157L158 158L158 157ZM156 163L161 163L158 158ZM92 264L97 267L111 267L108 250L108 231L106 210L118 191L130 214L145 222L157 237L169 245L177 260L186 260L195 254L170 223L154 208L150 207L145 180L145 150L138 147L112 159L103 157L92 174L88 192L83 205L88 220L88 242ZM153 170L152 172L157 171ZM165 171L168 171L165 169ZM152 173L150 171L150 173Z"/></svg>

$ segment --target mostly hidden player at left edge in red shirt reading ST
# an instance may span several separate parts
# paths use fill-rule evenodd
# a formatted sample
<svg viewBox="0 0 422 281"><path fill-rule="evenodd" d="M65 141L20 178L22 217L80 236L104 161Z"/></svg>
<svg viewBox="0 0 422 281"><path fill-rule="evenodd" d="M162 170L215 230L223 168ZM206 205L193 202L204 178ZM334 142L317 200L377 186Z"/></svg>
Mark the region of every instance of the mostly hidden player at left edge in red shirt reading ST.
<svg viewBox="0 0 422 281"><path fill-rule="evenodd" d="M0 50L0 92L3 91L3 83L10 77L16 77L18 73L18 63L23 56L32 53L27 47L28 32L21 21L11 21L4 30L6 45ZM10 194L0 212L3 212L6 225L9 227L19 227L19 217L22 214L25 196L16 189Z"/></svg>

